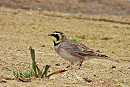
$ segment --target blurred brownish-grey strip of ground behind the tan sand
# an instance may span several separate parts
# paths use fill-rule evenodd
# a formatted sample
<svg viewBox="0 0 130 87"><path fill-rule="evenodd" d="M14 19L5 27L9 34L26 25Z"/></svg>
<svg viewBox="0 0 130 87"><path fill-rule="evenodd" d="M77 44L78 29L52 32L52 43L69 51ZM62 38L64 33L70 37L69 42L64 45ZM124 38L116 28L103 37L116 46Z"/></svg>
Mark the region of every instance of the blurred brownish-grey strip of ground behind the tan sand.
<svg viewBox="0 0 130 87"><path fill-rule="evenodd" d="M0 0L0 7L63 13L130 15L130 0Z"/></svg>

